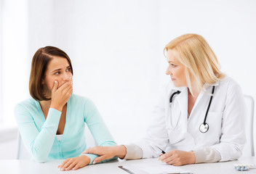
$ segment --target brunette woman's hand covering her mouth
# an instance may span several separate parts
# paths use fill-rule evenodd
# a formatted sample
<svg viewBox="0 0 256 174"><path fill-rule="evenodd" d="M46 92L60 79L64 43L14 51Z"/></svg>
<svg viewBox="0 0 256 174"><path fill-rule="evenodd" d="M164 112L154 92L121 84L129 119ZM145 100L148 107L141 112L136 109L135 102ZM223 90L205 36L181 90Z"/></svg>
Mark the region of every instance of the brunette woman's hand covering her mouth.
<svg viewBox="0 0 256 174"><path fill-rule="evenodd" d="M52 103L50 107L62 112L64 105L68 102L68 99L71 97L73 92L72 80L66 81L59 88L57 87L58 82L55 80L52 88Z"/></svg>

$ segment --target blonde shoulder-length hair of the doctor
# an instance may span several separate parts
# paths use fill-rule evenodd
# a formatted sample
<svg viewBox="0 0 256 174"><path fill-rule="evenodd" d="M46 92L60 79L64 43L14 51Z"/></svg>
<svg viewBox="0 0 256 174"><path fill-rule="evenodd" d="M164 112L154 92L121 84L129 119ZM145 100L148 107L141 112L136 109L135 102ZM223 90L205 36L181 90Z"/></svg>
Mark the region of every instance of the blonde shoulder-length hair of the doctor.
<svg viewBox="0 0 256 174"><path fill-rule="evenodd" d="M193 95L191 79L199 91L204 86L217 82L225 75L220 72L220 63L207 41L197 34L185 34L170 41L164 48L175 52L176 58L185 66L185 78Z"/></svg>

